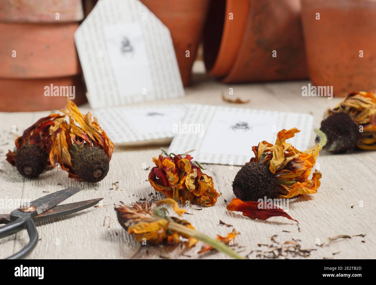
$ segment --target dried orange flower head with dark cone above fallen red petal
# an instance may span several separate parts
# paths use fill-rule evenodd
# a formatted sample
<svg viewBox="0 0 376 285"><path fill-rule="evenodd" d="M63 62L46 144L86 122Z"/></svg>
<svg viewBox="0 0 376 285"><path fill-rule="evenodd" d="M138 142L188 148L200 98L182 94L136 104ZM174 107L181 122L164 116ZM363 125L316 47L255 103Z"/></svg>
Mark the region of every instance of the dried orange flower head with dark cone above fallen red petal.
<svg viewBox="0 0 376 285"><path fill-rule="evenodd" d="M313 194L320 187L321 173L315 171L308 179L316 163L321 145L307 151L299 151L286 140L300 131L296 128L277 133L274 145L260 142L253 146L255 157L237 173L232 183L235 196L243 201L268 198L291 198Z"/></svg>

